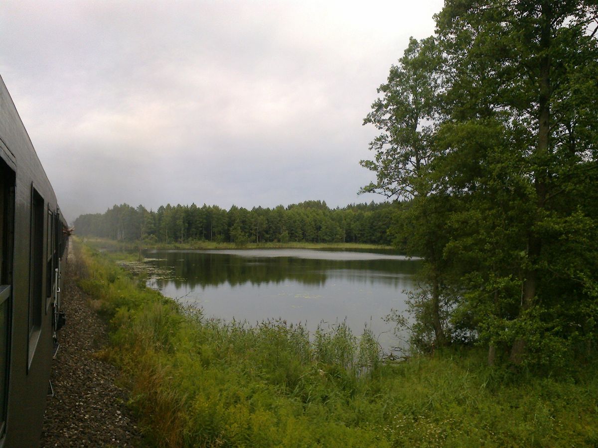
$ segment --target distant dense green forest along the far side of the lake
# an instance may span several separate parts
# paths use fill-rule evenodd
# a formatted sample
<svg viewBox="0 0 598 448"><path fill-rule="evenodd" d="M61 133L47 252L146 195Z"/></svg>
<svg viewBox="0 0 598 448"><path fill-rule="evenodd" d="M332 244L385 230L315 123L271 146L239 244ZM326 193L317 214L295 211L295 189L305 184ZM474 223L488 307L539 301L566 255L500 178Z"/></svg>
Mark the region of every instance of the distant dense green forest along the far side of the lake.
<svg viewBox="0 0 598 448"><path fill-rule="evenodd" d="M254 207L196 204L147 210L143 205L114 205L105 213L83 214L75 233L112 240L155 243L216 241L243 246L247 243L366 243L390 244L388 229L398 204L352 204L328 207L324 201L305 201L287 207Z"/></svg>

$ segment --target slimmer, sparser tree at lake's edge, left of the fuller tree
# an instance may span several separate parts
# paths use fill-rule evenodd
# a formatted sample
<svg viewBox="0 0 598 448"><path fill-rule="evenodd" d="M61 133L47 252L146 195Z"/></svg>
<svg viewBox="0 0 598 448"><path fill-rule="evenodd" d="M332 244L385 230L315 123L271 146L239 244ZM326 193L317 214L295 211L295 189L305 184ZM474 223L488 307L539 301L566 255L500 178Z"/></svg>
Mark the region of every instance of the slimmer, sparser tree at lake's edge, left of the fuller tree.
<svg viewBox="0 0 598 448"><path fill-rule="evenodd" d="M450 200L438 191L431 176L438 157L435 139L441 119L440 63L434 38L410 39L398 65L390 67L388 81L378 88L380 98L364 119L364 124L375 125L380 134L370 143L374 159L361 164L376 172L376 182L365 186L363 192L407 201L399 215L395 237L407 241L408 253L424 259L425 286L414 298L419 305L417 318L422 328L433 330L435 345L446 345L449 335L442 310L446 308L443 302L447 299L450 269L443 250L447 243L444 215L449 211Z"/></svg>

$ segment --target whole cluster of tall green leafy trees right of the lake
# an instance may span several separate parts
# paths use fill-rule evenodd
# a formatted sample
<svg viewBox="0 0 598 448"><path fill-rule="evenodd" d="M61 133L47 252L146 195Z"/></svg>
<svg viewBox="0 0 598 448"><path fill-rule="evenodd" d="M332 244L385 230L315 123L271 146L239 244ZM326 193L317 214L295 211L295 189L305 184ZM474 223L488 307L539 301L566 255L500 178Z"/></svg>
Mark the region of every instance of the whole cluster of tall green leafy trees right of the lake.
<svg viewBox="0 0 598 448"><path fill-rule="evenodd" d="M598 342L598 7L447 0L364 124L363 188L408 202L393 233L425 259L423 349L560 369Z"/></svg>

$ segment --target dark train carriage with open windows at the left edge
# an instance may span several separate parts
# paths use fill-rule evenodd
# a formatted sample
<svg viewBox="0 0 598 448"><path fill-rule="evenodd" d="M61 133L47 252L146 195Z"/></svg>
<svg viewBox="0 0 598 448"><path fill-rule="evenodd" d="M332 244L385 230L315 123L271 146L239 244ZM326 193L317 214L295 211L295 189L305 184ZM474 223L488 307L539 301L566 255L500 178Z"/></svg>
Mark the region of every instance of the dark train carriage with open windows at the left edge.
<svg viewBox="0 0 598 448"><path fill-rule="evenodd" d="M0 77L0 448L38 446L66 221Z"/></svg>

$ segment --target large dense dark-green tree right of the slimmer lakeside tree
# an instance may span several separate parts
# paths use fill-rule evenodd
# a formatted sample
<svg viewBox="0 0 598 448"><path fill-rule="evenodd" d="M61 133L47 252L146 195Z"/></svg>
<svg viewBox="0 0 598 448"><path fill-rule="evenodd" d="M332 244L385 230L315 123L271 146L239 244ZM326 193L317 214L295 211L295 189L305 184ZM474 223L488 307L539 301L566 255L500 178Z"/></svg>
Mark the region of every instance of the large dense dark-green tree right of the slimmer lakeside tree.
<svg viewBox="0 0 598 448"><path fill-rule="evenodd" d="M579 0L453 0L437 17L442 175L469 204L453 246L476 260L466 297L478 330L491 347L510 343L514 364L579 327L595 336L596 214L584 195L596 189L596 18Z"/></svg>

